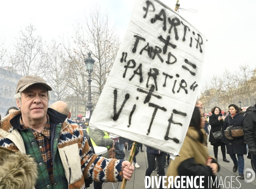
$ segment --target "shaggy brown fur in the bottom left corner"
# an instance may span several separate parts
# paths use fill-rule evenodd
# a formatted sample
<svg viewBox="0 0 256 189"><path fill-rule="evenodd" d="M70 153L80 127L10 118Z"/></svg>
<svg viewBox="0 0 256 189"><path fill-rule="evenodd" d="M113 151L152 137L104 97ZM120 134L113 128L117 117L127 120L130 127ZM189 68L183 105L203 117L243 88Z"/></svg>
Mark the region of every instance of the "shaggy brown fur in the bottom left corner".
<svg viewBox="0 0 256 189"><path fill-rule="evenodd" d="M0 146L0 189L33 189L37 178L34 158Z"/></svg>

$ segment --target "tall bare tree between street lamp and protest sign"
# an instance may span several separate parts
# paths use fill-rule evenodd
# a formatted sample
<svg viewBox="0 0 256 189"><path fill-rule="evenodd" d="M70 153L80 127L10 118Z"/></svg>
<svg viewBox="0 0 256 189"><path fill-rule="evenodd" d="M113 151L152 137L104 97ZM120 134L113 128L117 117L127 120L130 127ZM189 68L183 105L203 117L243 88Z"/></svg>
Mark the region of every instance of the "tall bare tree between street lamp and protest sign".
<svg viewBox="0 0 256 189"><path fill-rule="evenodd" d="M85 24L88 43L84 44L88 44L87 48L91 50L92 55L96 58L92 78L96 81L98 94L100 95L115 61L120 42L116 35L115 26L110 25L107 13L102 13L100 8L95 6L91 10L89 18Z"/></svg>

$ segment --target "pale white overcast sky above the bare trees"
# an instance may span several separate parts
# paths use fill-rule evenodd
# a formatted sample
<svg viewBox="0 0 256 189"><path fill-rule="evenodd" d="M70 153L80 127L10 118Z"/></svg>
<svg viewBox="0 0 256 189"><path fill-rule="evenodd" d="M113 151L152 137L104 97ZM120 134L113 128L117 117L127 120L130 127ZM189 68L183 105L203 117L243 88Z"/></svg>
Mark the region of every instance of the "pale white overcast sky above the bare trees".
<svg viewBox="0 0 256 189"><path fill-rule="evenodd" d="M83 20L95 6L107 10L121 38L131 17L134 0L5 0L0 6L0 38L6 46L15 42L19 31L32 23L48 42L72 32L77 20ZM162 0L174 9L176 0ZM179 14L207 37L202 84L224 69L234 72L239 65L256 67L255 0L180 0L180 8L196 13Z"/></svg>

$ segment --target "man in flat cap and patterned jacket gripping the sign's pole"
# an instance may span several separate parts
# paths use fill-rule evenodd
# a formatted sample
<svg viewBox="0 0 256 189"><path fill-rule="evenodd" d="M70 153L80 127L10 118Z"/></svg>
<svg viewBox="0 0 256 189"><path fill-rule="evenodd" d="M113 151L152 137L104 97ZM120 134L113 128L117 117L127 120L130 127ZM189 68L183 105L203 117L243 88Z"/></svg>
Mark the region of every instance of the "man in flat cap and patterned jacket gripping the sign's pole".
<svg viewBox="0 0 256 189"><path fill-rule="evenodd" d="M0 145L35 159L35 188L85 189L87 180L130 180L134 171L130 162L93 154L79 126L48 108L49 90L39 76L22 77L15 95L20 110L1 120Z"/></svg>

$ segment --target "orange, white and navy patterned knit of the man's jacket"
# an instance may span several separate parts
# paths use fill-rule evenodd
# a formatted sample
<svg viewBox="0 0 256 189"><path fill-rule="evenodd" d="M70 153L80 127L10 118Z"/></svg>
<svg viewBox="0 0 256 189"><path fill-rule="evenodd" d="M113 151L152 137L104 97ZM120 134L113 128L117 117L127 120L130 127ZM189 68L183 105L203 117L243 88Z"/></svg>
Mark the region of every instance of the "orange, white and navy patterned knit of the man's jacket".
<svg viewBox="0 0 256 189"><path fill-rule="evenodd" d="M52 123L54 122L54 117L51 117L50 112L52 111L52 109L51 111L49 111L49 109L50 108L48 108L47 114L49 115ZM58 112L55 111L54 113L58 113ZM1 120L2 126L0 128L0 146L9 148L13 151L19 151L19 148L17 147L18 140L16 140L15 142L10 140L9 139L10 137L4 137L3 135L6 136L5 132L7 132L9 134L15 135L17 139L21 138L19 132L17 132L17 128L19 128L19 125L18 126L13 125L13 121L11 121L12 124L10 122L12 118L15 118L16 116L20 116L20 114L21 114L20 111L16 111L14 113L9 114L8 116L5 116ZM75 122L71 121L70 119L66 119L64 122L62 122L61 132L59 136L60 136L58 140L59 149L64 148L65 146L68 146L68 145L73 145L75 143L78 144L78 148L79 148L82 178L77 180L77 182L70 184L70 189L85 188L84 179L101 181L101 182L122 181L121 171L122 171L122 162L124 160L106 159L105 157L98 157L96 154L93 154L87 139L83 137L83 132L79 128L79 125L77 125ZM19 145L22 146L23 144L20 144L20 143L22 142L19 142ZM26 153L24 151L21 151L21 152Z"/></svg>

